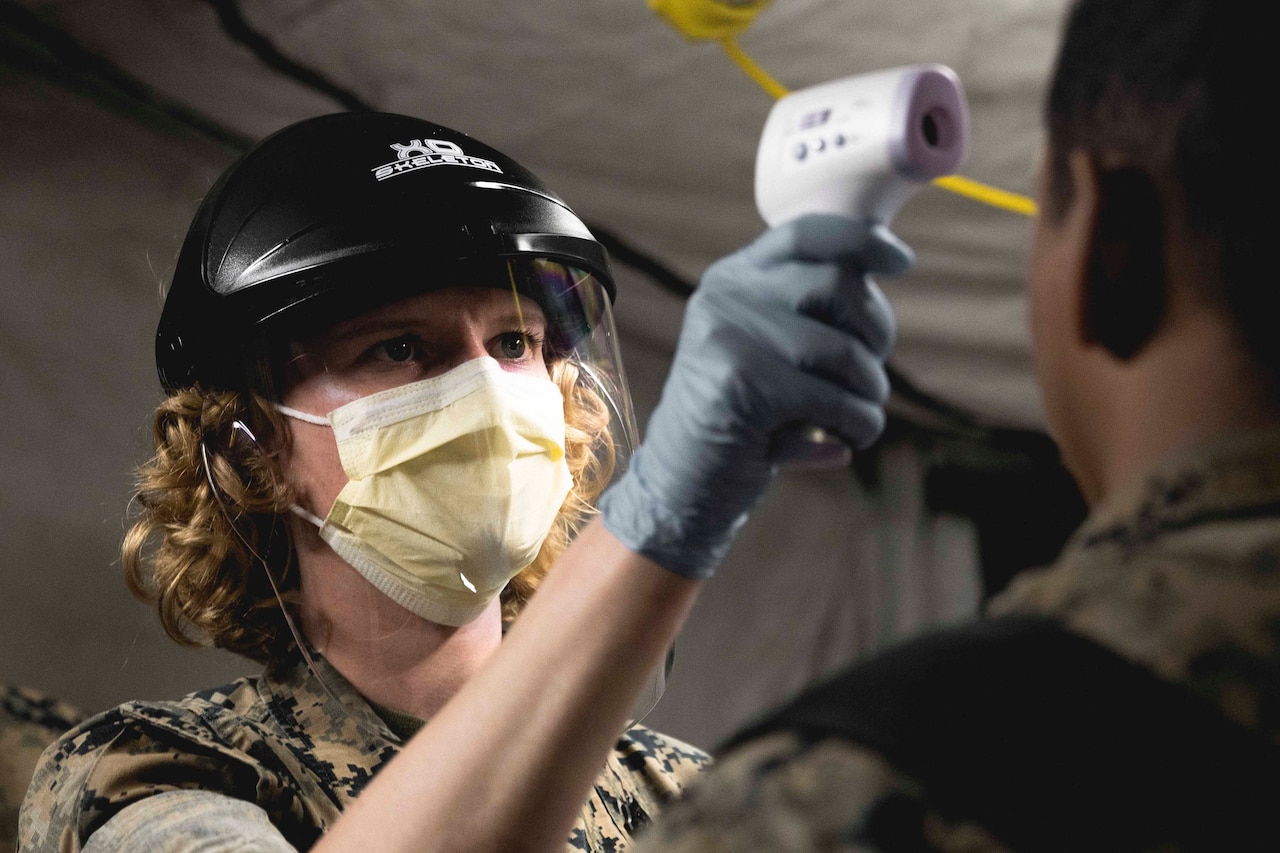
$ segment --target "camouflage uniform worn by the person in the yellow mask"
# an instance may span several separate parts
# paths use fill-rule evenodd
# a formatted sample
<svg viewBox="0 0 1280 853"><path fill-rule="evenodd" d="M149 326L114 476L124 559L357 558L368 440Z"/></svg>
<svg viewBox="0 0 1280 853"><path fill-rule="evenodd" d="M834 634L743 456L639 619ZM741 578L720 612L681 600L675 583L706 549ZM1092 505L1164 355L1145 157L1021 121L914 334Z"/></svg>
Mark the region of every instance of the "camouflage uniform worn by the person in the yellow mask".
<svg viewBox="0 0 1280 853"><path fill-rule="evenodd" d="M314 660L323 680L296 658L178 702L123 704L68 733L23 803L22 849L307 849L403 744L337 670ZM567 849L626 849L705 761L686 744L628 730Z"/></svg>

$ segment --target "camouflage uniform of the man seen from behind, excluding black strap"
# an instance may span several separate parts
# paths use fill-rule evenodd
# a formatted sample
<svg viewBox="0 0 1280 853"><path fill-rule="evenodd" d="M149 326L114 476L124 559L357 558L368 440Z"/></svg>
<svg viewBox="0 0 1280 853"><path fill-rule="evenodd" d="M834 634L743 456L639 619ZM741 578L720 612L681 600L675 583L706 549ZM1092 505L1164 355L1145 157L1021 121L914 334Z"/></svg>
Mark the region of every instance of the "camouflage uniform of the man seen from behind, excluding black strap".
<svg viewBox="0 0 1280 853"><path fill-rule="evenodd" d="M1088 638L1143 678L1155 674L1149 680L1162 689L1187 688L1171 692L1247 738L1251 752L1274 753L1280 740L1280 433L1236 435L1157 466L1137 488L1096 508L1057 562L1016 579L989 615L979 626L1047 616L1071 631L1066 637ZM1037 742L1061 736L1046 726L1032 731ZM1170 738L1167 760L1176 766L1179 751L1196 736L1193 730ZM1053 774L1053 766L1044 772ZM1089 772L1102 780L1120 768L1103 761L1087 768L1087 780ZM1274 790L1275 774L1270 777L1266 792ZM1254 780L1239 784L1252 788ZM1266 792L1260 797L1270 797ZM1225 820L1213 822L1210 815L1207 821L1210 831L1229 831ZM1048 839L1038 848L1112 844L1062 848ZM1280 836L1197 849L1244 848L1280 849ZM943 818L929 789L877 751L847 738L773 730L721 757L636 849L992 853L1010 847L978 821Z"/></svg>

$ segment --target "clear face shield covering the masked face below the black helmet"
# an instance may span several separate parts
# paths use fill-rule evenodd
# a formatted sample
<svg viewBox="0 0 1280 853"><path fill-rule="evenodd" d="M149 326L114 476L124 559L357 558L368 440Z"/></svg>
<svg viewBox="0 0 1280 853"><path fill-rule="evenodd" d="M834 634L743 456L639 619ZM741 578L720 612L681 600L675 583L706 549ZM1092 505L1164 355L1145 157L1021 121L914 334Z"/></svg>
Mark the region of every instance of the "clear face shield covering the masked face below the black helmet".
<svg viewBox="0 0 1280 853"><path fill-rule="evenodd" d="M527 256L483 280L378 305L291 348L278 406L297 492L291 629L315 675L337 667L369 698L394 695L387 680L419 649L465 653L467 635L518 619L637 443L603 283ZM632 720L660 698L668 663Z"/></svg>

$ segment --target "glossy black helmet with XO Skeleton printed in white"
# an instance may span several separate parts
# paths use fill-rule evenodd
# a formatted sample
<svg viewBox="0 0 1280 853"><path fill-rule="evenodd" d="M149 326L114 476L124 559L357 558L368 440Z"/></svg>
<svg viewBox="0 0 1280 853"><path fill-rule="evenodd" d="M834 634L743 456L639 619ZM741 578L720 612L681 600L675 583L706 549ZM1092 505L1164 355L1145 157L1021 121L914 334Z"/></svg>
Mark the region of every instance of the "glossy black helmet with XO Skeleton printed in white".
<svg viewBox="0 0 1280 853"><path fill-rule="evenodd" d="M387 113L300 122L237 160L196 213L156 332L160 384L242 388L244 345L273 324L547 278L508 259L558 261L614 296L582 220L483 142ZM548 318L570 343L593 323L573 313Z"/></svg>

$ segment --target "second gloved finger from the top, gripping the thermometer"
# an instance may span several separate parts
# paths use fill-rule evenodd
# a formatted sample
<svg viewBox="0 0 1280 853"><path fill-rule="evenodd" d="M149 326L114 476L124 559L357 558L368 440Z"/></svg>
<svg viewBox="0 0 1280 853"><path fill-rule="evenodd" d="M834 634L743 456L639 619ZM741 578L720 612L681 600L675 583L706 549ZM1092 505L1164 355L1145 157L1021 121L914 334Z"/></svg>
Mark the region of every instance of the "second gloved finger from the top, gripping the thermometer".
<svg viewBox="0 0 1280 853"><path fill-rule="evenodd" d="M728 298L739 302L773 301L861 338L878 356L887 356L897 337L897 320L884 293L861 270L845 264L786 261L751 268L745 289ZM707 292L716 300L717 293Z"/></svg>

